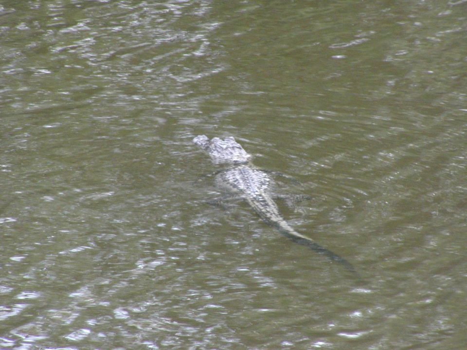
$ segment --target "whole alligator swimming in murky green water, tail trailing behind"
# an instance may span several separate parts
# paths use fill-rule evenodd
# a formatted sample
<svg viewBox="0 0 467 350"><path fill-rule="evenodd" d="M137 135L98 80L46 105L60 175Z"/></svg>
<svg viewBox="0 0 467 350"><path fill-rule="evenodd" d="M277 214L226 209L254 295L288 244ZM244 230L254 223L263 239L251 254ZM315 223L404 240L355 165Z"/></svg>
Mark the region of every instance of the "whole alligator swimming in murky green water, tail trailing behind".
<svg viewBox="0 0 467 350"><path fill-rule="evenodd" d="M224 140L219 138L209 140L207 136L199 135L193 139L193 142L206 151L215 164L230 164L227 169L216 172L216 184L230 194L211 203L221 204L224 199L243 199L266 224L276 228L293 242L305 245L355 272L350 262L290 227L273 200L274 198L286 198L286 196L271 192L273 179L270 172L252 165L251 155L233 137L227 137ZM298 198L306 199L307 197L298 195Z"/></svg>

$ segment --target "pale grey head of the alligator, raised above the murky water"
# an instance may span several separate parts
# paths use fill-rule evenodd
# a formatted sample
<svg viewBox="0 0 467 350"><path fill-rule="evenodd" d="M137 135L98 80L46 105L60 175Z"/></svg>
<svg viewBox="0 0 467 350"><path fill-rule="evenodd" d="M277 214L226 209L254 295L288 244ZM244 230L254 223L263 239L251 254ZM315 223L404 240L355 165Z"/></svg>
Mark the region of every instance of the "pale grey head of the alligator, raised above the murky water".
<svg viewBox="0 0 467 350"><path fill-rule="evenodd" d="M233 137L225 140L213 138L209 140L206 135L198 135L193 142L206 151L216 164L223 163L246 163L251 158Z"/></svg>

